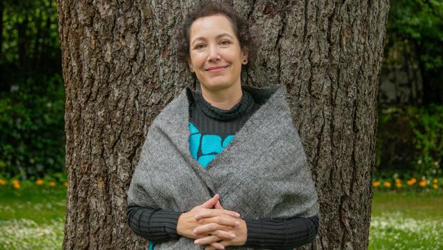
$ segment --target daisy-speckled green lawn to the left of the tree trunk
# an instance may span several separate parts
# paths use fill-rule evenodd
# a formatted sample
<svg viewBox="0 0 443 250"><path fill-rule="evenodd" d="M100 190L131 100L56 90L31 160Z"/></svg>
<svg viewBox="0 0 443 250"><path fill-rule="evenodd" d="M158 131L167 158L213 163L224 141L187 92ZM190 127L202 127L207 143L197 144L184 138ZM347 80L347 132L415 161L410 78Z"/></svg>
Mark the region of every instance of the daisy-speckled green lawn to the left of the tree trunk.
<svg viewBox="0 0 443 250"><path fill-rule="evenodd" d="M61 249L65 187L0 187L0 249Z"/></svg>

